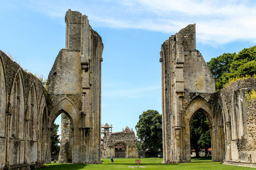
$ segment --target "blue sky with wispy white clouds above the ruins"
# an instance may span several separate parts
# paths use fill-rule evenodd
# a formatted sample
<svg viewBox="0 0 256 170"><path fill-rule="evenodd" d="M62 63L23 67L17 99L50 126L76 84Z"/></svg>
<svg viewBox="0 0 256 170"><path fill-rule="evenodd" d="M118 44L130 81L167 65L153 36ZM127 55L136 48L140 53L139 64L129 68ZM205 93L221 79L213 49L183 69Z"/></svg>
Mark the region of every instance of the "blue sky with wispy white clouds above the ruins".
<svg viewBox="0 0 256 170"><path fill-rule="evenodd" d="M134 129L148 109L161 113L162 43L196 24L196 48L209 61L256 44L256 1L0 0L0 50L46 79L65 48L65 12L87 15L104 43L102 124Z"/></svg>

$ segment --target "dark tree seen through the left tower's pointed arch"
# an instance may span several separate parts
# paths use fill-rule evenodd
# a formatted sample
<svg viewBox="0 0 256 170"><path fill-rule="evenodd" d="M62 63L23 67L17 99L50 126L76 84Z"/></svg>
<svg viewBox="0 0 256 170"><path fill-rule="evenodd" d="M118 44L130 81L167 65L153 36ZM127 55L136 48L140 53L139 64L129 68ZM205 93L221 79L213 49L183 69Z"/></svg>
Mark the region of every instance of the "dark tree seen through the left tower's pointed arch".
<svg viewBox="0 0 256 170"><path fill-rule="evenodd" d="M58 128L60 125L53 124L53 129L52 129L52 136L51 136L51 141L52 141L52 155L57 155L60 152L60 135L58 135Z"/></svg>

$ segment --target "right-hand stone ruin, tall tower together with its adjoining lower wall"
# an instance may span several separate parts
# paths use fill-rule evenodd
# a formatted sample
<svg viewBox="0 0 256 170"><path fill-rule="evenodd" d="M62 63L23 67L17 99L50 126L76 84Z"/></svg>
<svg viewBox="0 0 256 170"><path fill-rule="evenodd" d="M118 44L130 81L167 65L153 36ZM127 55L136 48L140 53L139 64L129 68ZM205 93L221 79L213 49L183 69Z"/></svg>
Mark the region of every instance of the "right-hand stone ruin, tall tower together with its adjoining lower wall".
<svg viewBox="0 0 256 170"><path fill-rule="evenodd" d="M255 103L246 92L256 80L237 81L218 92L196 50L195 24L166 40L160 52L163 163L190 162L190 121L202 111L209 120L212 161L256 167Z"/></svg>

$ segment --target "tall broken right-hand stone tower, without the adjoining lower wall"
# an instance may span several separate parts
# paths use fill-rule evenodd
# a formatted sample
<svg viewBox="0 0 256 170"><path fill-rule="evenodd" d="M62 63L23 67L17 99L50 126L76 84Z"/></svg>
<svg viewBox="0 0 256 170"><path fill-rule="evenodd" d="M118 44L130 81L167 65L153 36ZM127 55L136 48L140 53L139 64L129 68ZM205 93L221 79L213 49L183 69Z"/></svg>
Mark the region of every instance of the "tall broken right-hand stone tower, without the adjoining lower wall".
<svg viewBox="0 0 256 170"><path fill-rule="evenodd" d="M196 50L195 24L188 25L166 40L160 55L163 162L190 162L191 117L196 111L204 110L213 127L212 108L207 101L209 95L215 92L212 73Z"/></svg>

